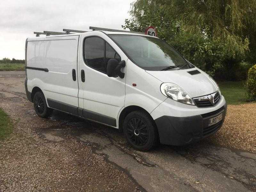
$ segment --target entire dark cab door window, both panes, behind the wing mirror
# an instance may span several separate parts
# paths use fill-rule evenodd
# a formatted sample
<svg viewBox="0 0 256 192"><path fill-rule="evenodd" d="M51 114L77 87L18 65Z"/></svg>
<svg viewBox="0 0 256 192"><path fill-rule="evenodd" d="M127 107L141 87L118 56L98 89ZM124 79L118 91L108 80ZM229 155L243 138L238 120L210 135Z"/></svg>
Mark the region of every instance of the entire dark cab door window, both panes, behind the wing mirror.
<svg viewBox="0 0 256 192"><path fill-rule="evenodd" d="M106 41L99 37L87 37L84 40L84 60L89 67L107 73L110 59L121 61L121 57Z"/></svg>

